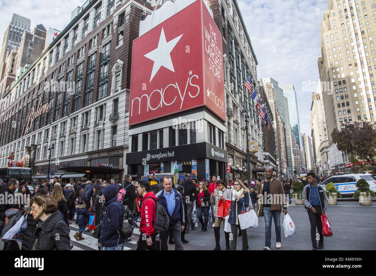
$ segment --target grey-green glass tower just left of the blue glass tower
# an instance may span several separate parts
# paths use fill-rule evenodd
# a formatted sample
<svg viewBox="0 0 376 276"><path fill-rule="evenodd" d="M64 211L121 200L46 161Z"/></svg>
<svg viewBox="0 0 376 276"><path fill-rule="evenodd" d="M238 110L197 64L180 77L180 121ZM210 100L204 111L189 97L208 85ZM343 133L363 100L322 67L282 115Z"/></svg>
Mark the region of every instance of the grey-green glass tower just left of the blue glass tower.
<svg viewBox="0 0 376 276"><path fill-rule="evenodd" d="M277 107L279 111L279 115L281 119L284 121L285 127L286 127L286 144L287 144L287 164L288 167L294 166L294 157L293 157L293 148L291 145L291 128L287 127L290 126L290 115L289 115L289 107L288 107L288 100L284 96L284 91L281 87L278 85L278 81L274 80L271 77L263 78L262 82L265 83L271 83L272 91L273 91L273 101L274 106ZM269 88L269 90L271 90ZM268 90L267 90L268 91ZM270 101L269 101L270 103Z"/></svg>

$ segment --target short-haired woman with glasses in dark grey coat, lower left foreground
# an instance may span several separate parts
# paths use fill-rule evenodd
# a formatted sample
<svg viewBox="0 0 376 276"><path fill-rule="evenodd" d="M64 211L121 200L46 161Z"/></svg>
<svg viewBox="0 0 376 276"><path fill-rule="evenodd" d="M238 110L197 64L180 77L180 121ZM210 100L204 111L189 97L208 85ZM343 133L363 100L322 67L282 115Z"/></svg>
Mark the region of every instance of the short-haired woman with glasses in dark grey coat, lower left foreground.
<svg viewBox="0 0 376 276"><path fill-rule="evenodd" d="M56 212L58 203L50 196L36 195L30 208L33 218L40 219L35 235L36 250L70 250L69 227ZM59 238L57 238L59 237Z"/></svg>

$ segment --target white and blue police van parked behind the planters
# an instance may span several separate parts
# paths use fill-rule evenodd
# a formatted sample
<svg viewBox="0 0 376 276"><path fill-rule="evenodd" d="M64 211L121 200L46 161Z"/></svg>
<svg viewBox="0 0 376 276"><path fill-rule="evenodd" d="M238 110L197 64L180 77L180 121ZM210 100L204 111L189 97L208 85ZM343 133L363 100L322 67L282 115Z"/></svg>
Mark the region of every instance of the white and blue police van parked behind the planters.
<svg viewBox="0 0 376 276"><path fill-rule="evenodd" d="M355 186L359 179L365 179L370 184L370 189L376 192L376 177L370 173L351 173L343 175L334 175L321 183L324 187L333 182L335 189L341 193L343 197L352 197L354 192L358 190Z"/></svg>

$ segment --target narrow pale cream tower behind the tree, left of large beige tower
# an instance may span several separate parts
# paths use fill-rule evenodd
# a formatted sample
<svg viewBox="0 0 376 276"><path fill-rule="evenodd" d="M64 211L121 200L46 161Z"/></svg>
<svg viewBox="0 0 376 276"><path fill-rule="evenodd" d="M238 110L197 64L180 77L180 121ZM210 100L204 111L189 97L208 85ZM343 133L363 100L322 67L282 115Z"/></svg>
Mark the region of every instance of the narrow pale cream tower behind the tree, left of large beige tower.
<svg viewBox="0 0 376 276"><path fill-rule="evenodd" d="M312 94L311 104L311 137L315 164L322 166L327 161L326 156L321 158L321 147L328 140L326 127L323 95L321 91L321 82L318 81L317 93ZM325 143L324 143L325 142Z"/></svg>

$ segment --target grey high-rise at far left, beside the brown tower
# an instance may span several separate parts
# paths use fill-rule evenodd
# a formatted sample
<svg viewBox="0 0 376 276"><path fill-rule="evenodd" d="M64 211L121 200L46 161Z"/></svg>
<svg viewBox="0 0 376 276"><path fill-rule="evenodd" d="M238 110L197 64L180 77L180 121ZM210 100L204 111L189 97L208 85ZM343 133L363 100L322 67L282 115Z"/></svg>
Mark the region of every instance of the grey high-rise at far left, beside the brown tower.
<svg viewBox="0 0 376 276"><path fill-rule="evenodd" d="M17 51L21 45L23 32L30 33L30 19L13 14L5 30L1 47L0 62L4 62L10 51Z"/></svg>

